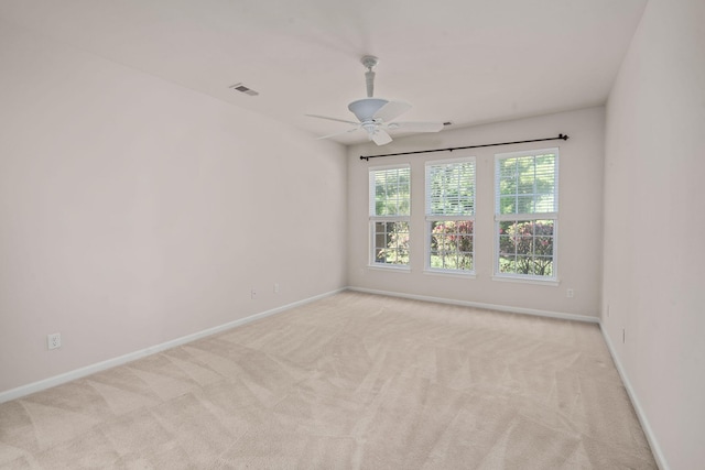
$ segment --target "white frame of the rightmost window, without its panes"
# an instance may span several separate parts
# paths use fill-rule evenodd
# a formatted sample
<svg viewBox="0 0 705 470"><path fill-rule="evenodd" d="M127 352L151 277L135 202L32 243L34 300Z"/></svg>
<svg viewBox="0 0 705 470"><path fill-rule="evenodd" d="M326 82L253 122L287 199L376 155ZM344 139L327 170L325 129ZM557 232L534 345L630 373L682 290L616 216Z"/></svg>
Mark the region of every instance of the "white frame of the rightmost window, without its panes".
<svg viewBox="0 0 705 470"><path fill-rule="evenodd" d="M512 214L500 214L500 162L509 159L519 159L532 156L534 157L534 171L535 171L535 157L540 155L554 155L554 165L553 165L553 210L552 211L532 211L532 212L512 212ZM536 150L527 150L519 152L508 152L508 153L499 153L495 154L495 227L494 227L494 239L495 239L495 253L494 253L494 276L495 281L518 281L518 282L529 282L529 283L540 283L540 284L554 284L558 283L558 179L560 179L560 151L558 147L550 147L550 149L536 149ZM519 189L517 189L517 197L519 196ZM533 201L535 203L535 197L540 195L540 193L534 192L532 196L534 197ZM535 209L535 207L534 207ZM541 221L541 220L551 220L553 223L552 229L552 261L551 261L551 275L536 275L536 274L522 274L522 273L502 273L500 271L500 225L501 222L531 222L531 221ZM532 238L535 238L535 233L532 234Z"/></svg>

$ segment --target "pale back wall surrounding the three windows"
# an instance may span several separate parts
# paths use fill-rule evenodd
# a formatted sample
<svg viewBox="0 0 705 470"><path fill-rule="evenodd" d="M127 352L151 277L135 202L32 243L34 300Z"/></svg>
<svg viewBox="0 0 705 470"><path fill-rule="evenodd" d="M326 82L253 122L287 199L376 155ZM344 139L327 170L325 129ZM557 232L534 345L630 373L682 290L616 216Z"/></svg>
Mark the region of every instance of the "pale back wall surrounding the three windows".
<svg viewBox="0 0 705 470"><path fill-rule="evenodd" d="M539 118L445 130L399 139L383 147L361 144L348 150L348 281L354 287L490 304L543 313L599 315L603 161L605 109L590 108ZM361 161L360 155L520 141L568 134L568 141L505 145L453 153L427 153ZM558 278L556 285L492 281L494 159L496 153L560 147ZM476 157L476 278L423 273L424 162L463 155ZM412 220L410 273L369 269L368 168L411 164ZM566 297L573 288L575 296Z"/></svg>

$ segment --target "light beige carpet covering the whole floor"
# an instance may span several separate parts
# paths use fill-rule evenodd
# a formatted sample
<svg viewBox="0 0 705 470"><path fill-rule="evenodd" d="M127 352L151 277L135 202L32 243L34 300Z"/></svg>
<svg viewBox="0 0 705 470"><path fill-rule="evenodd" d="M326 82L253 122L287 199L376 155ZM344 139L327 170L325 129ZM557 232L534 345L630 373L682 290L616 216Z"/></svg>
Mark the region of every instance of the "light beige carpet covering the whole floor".
<svg viewBox="0 0 705 470"><path fill-rule="evenodd" d="M657 466L597 325L346 292L1 404L0 468Z"/></svg>

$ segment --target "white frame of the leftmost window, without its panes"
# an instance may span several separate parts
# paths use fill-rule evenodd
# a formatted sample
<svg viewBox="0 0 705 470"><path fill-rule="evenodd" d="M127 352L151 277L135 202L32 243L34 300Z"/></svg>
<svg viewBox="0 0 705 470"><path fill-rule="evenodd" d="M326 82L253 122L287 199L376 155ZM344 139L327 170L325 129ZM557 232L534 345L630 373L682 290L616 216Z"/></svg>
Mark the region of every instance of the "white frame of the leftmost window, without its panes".
<svg viewBox="0 0 705 470"><path fill-rule="evenodd" d="M409 214L408 215L394 215L394 216L378 216L376 214L377 197L376 197L376 175L378 172L387 172L390 170L408 170L409 172ZM383 166L370 166L368 167L368 233L369 233L369 249L368 249L368 267L382 269L382 270L398 270L410 271L411 270L411 249L409 248L409 261L406 263L381 263L377 261L377 223L386 222L405 222L409 228L409 237L411 239L411 214L412 214L412 182L411 182L411 164L401 163L397 165L383 165Z"/></svg>

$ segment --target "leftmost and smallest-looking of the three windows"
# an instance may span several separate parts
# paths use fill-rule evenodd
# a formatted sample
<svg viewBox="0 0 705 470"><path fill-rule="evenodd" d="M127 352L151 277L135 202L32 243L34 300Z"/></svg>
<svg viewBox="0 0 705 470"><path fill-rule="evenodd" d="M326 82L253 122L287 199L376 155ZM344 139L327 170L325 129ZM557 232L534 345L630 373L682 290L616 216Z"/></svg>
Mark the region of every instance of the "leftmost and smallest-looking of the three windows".
<svg viewBox="0 0 705 470"><path fill-rule="evenodd" d="M409 265L411 168L370 168L372 265Z"/></svg>

